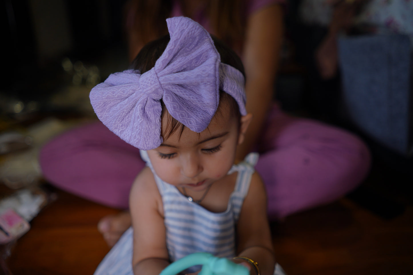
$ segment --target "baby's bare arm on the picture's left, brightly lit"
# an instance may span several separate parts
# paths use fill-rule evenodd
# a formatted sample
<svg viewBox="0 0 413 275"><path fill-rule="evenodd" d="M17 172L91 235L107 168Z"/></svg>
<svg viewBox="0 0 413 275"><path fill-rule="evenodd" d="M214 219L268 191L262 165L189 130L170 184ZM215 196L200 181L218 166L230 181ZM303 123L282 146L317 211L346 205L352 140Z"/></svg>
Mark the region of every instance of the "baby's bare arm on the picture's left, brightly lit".
<svg viewBox="0 0 413 275"><path fill-rule="evenodd" d="M169 265L162 200L154 176L145 168L129 197L133 226L133 273L158 275Z"/></svg>

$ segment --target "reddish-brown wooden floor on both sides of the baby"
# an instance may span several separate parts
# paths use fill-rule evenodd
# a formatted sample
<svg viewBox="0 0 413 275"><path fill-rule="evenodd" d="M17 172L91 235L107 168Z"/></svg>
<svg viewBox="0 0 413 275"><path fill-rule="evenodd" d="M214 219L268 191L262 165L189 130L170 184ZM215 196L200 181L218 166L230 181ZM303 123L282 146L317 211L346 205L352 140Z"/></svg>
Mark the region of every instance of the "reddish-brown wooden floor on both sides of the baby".
<svg viewBox="0 0 413 275"><path fill-rule="evenodd" d="M14 275L93 274L109 248L96 229L115 213L56 190L7 263ZM343 198L272 223L278 262L289 275L412 275L413 207L383 218Z"/></svg>

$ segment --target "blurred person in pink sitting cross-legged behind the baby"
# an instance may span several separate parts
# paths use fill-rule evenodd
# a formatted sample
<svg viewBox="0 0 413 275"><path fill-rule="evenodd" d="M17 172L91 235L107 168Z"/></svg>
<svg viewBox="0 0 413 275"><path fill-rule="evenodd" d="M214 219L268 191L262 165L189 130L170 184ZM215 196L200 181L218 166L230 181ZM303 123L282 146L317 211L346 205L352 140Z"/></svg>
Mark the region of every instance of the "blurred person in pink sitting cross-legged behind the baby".
<svg viewBox="0 0 413 275"><path fill-rule="evenodd" d="M134 0L126 5L125 22L131 60L146 42L166 34L165 18L181 15L240 55L253 123L237 157L260 153L256 170L266 184L271 219L337 200L358 186L370 167L368 148L358 137L287 115L273 102L283 5L280 0ZM138 148L94 122L50 141L40 153L40 164L55 186L127 209L129 189L145 162ZM112 246L130 225L126 211L104 217L98 228Z"/></svg>

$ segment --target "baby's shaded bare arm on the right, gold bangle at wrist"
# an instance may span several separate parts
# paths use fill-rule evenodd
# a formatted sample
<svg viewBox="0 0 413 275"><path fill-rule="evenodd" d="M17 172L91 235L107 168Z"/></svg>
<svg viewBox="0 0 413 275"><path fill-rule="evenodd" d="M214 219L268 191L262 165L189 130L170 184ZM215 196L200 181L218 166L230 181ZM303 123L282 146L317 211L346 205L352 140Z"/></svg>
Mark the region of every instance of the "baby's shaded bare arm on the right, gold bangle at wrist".
<svg viewBox="0 0 413 275"><path fill-rule="evenodd" d="M275 267L275 256L266 202L263 182L260 176L254 173L237 224L238 256L256 261L262 275L272 275ZM240 263L244 260L235 259L235 261ZM255 275L254 268L251 268L251 274Z"/></svg>

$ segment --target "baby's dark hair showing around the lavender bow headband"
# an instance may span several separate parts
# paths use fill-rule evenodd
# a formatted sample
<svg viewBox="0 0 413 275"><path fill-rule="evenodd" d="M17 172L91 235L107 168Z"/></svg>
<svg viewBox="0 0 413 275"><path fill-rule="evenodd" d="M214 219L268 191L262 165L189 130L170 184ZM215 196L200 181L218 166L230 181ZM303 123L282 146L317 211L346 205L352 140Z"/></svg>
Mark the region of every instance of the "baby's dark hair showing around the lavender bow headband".
<svg viewBox="0 0 413 275"><path fill-rule="evenodd" d="M241 59L238 57L238 55L230 49L227 45L225 45L224 42L219 40L218 38L214 37L211 35L212 40L214 41L215 48L217 49L218 53L221 56L221 62L228 64L230 66L233 66L236 68L238 71L244 75L245 78L245 72L244 72L244 66L242 65ZM149 71L155 66L156 61L159 59L159 57L162 55L164 50L166 49L166 46L168 45L170 40L170 36L164 35L161 38L157 40L153 40L152 42L147 43L138 53L138 55L135 57L135 59L132 61L131 66L129 67L130 69L135 69L139 70L141 74ZM228 106L230 107L231 110L231 115L233 115L235 118L237 118L237 121L240 121L241 118L241 113L240 113L240 108L238 106L237 101L227 94L224 91L219 91L219 105L218 109L216 110L216 115L222 115L221 111L221 105L222 103L228 103ZM162 115L163 117L167 113L167 109L165 107L164 102L161 100L161 106L162 106ZM238 122L239 123L239 122ZM168 116L168 120L166 123L165 131L162 133L162 137L165 139L168 139L169 136L171 136L176 130L180 129L180 134L182 134L183 130L185 129L185 125L183 125L181 122L173 118L171 115Z"/></svg>

